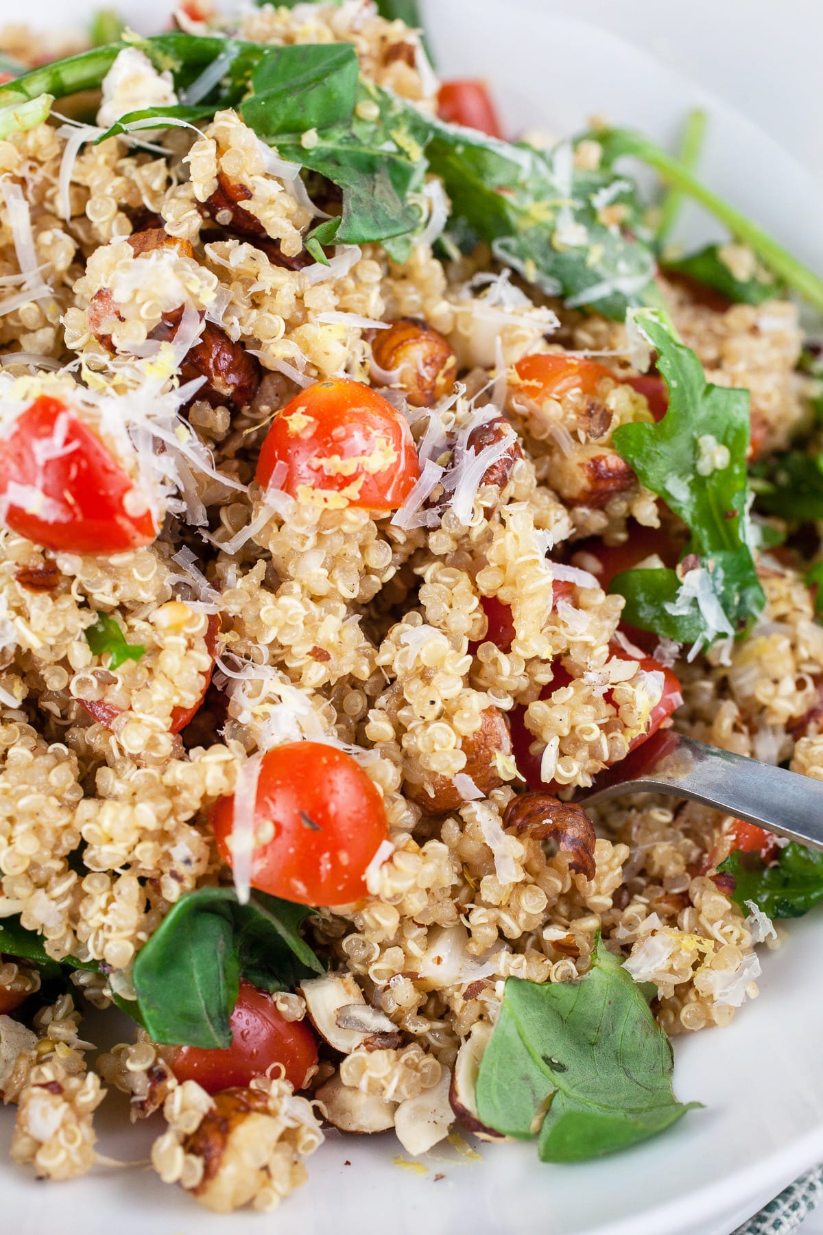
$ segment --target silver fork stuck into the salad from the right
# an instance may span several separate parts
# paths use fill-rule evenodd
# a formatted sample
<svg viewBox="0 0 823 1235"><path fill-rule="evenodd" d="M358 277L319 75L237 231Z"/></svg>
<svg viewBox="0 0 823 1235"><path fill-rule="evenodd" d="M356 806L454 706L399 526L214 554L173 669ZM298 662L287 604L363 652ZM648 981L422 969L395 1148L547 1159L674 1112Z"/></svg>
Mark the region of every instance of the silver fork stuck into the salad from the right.
<svg viewBox="0 0 823 1235"><path fill-rule="evenodd" d="M779 836L823 850L823 782L659 730L596 777L581 806L632 793L691 798Z"/></svg>

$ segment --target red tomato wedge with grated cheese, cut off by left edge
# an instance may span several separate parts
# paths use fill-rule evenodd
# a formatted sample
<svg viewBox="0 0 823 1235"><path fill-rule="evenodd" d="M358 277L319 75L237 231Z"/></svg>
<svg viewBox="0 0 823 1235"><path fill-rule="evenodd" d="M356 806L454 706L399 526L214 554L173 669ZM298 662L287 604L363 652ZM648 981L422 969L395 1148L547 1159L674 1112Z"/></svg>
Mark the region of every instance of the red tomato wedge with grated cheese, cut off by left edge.
<svg viewBox="0 0 823 1235"><path fill-rule="evenodd" d="M131 477L96 433L48 395L0 441L0 511L12 531L69 553L121 553L157 536Z"/></svg>

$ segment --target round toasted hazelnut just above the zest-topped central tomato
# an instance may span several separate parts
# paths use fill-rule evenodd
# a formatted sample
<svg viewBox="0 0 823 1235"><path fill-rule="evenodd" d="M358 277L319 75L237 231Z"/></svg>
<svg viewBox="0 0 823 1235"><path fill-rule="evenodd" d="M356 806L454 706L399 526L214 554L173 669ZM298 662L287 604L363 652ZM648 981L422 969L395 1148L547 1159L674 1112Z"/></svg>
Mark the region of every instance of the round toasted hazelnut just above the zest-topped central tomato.
<svg viewBox="0 0 823 1235"><path fill-rule="evenodd" d="M413 408L433 406L454 385L458 366L454 348L415 317L399 317L389 330L376 331L371 358L373 378L401 389Z"/></svg>

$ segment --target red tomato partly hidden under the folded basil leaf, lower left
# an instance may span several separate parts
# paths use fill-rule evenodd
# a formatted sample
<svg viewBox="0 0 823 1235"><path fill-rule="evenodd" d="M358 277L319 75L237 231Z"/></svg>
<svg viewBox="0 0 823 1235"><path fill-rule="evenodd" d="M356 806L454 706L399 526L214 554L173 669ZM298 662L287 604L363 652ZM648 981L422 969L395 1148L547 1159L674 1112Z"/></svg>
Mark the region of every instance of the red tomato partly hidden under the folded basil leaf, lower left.
<svg viewBox="0 0 823 1235"><path fill-rule="evenodd" d="M178 1081L196 1081L206 1093L246 1088L273 1063L283 1065L294 1089L302 1089L317 1063L317 1040L306 1020L284 1020L274 1000L241 978L231 1019L232 1045L225 1051L179 1046L172 1058Z"/></svg>

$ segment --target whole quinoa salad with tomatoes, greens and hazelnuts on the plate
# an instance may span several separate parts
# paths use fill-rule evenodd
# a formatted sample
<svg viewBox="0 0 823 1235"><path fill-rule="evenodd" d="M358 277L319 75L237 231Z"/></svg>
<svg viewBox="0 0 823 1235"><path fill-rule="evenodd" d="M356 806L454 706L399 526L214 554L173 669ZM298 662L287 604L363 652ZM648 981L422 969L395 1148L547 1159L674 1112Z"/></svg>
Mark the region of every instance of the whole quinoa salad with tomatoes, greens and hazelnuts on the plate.
<svg viewBox="0 0 823 1235"><path fill-rule="evenodd" d="M672 726L823 779L823 280L706 116L506 132L412 4L49 37L0 31L14 1163L111 1167L107 1094L218 1213L325 1136L664 1132L823 856L576 799Z"/></svg>

